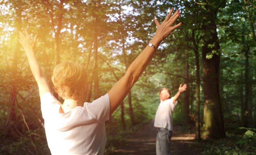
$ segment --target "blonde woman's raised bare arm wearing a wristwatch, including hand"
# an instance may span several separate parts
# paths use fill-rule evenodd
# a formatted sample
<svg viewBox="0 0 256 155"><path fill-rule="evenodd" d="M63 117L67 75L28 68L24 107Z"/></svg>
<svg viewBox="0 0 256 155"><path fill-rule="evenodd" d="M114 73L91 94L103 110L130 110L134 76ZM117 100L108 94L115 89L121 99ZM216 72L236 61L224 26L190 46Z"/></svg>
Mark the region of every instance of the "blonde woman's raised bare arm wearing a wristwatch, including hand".
<svg viewBox="0 0 256 155"><path fill-rule="evenodd" d="M171 8L170 13L162 24L154 19L154 22L156 23L156 33L150 41L151 44L149 44L149 46L139 54L139 56L129 66L125 75L109 90L110 114L116 110L129 93L133 84L139 79L160 43L171 33L171 31L180 27L181 23L172 26L178 16L180 16L180 10L177 10L174 15L171 15L172 13L173 8Z"/></svg>

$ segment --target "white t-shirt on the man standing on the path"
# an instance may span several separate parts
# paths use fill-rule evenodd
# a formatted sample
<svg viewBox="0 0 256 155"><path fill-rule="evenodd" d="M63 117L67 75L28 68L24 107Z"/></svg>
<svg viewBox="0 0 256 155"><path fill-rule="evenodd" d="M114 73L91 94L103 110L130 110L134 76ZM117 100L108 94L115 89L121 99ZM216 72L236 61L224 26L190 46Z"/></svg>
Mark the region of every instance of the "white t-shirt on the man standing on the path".
<svg viewBox="0 0 256 155"><path fill-rule="evenodd" d="M155 116L154 127L167 128L173 131L173 112L177 101L173 104L173 97L160 102Z"/></svg>

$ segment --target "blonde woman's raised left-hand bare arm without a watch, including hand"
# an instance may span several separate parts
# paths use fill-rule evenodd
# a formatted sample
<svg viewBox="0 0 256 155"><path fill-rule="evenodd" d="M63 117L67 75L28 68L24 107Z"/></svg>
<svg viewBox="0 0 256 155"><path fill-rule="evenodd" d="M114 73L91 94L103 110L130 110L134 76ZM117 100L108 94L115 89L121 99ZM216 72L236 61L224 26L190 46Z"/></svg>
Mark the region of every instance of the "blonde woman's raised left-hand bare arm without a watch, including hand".
<svg viewBox="0 0 256 155"><path fill-rule="evenodd" d="M39 94L41 97L44 93L51 92L51 89L47 82L47 78L46 78L45 74L43 73L41 67L39 66L39 64L35 58L35 54L34 54L34 47L36 45L36 40L38 38L38 35L35 35L34 39L32 40L29 37L29 34L27 31L25 31L25 35L23 35L19 31L19 36L20 36L19 42L21 43L21 45L23 46L23 48L25 50L30 69L32 71L32 74L35 78L36 83L38 84Z"/></svg>

